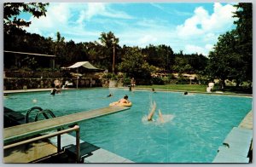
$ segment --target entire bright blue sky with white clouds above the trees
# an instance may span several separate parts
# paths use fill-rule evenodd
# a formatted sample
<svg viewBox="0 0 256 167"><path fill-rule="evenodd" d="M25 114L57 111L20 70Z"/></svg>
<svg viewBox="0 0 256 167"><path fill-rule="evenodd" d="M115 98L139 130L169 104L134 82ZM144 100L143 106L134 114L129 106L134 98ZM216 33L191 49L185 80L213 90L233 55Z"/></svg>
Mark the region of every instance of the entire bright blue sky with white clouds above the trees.
<svg viewBox="0 0 256 167"><path fill-rule="evenodd" d="M27 32L65 41L100 42L113 32L119 45L170 46L175 53L208 55L218 36L236 26L233 3L49 3L46 17L21 14Z"/></svg>

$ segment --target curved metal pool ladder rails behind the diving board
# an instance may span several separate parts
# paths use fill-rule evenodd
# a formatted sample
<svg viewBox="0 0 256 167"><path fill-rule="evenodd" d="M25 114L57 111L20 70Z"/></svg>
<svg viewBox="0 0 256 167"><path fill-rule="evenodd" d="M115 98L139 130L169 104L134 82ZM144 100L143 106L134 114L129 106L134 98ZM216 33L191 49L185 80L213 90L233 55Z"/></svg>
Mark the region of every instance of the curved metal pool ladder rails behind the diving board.
<svg viewBox="0 0 256 167"><path fill-rule="evenodd" d="M46 109L46 110L43 110L41 107L32 107L30 110L28 110L26 112L26 124L29 123L29 115L32 113L32 112L38 112L34 121L37 122L38 121L38 117L43 114L44 115L44 118L46 119L49 119L49 116L51 118L55 118L55 114L53 112L51 112L50 110Z"/></svg>

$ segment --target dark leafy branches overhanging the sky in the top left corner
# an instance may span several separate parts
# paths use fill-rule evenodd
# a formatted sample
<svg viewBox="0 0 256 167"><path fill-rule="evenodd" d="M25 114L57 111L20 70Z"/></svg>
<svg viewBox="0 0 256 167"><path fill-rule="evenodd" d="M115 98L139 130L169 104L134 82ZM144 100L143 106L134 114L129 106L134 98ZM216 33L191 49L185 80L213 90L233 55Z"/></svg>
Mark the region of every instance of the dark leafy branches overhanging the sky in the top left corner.
<svg viewBox="0 0 256 167"><path fill-rule="evenodd" d="M30 13L39 18L46 15L46 6L48 5L49 3L3 3L4 32L9 33L31 24L31 21L18 18L21 12Z"/></svg>

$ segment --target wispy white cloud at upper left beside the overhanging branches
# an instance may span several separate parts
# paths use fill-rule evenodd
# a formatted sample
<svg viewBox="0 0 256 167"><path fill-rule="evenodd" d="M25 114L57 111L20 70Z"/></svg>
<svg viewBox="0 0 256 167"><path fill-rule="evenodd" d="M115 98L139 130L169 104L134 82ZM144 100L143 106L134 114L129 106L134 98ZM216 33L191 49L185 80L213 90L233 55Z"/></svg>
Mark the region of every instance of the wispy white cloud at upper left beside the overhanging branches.
<svg viewBox="0 0 256 167"><path fill-rule="evenodd" d="M132 18L129 14L118 9L113 10L108 6L109 3L50 3L46 17L42 16L39 19L31 17L32 24L25 29L27 32L38 33L44 37L52 37L52 34L61 32L61 35L69 40L78 39L79 42L83 41L83 38L89 40L91 36L96 34L99 36L101 33L86 27L86 23L95 21L92 19L96 16L104 16L106 20Z"/></svg>

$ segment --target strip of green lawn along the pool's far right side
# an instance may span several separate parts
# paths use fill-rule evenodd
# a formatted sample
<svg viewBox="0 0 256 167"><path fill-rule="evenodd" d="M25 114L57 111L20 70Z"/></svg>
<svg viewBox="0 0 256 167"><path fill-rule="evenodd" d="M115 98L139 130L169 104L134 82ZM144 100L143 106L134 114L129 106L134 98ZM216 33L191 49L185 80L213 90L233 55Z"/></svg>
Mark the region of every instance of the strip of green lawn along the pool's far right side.
<svg viewBox="0 0 256 167"><path fill-rule="evenodd" d="M146 89L167 89L167 90L175 90L175 91L188 91L188 92L207 92L207 85L199 85L199 84L165 84L165 85L137 85L137 88L146 88ZM219 90L218 86L213 88L214 91ZM226 86L223 90L224 93L231 94L253 94L253 89L246 89L244 87L236 87L236 86Z"/></svg>

